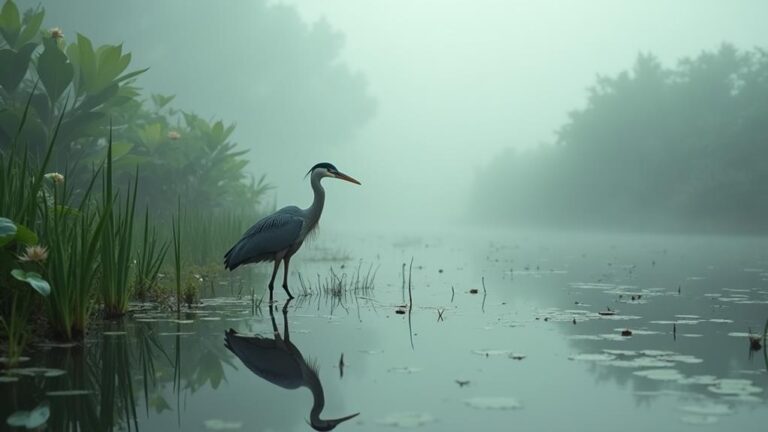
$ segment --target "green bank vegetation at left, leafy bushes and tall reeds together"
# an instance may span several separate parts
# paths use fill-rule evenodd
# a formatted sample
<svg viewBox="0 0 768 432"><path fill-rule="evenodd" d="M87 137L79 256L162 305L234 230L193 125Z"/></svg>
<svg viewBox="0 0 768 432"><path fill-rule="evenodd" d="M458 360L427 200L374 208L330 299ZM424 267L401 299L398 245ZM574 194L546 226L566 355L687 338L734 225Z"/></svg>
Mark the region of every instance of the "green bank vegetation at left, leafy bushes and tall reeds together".
<svg viewBox="0 0 768 432"><path fill-rule="evenodd" d="M94 314L120 317L133 299L194 303L269 188L247 175L234 126L173 109L170 96L145 101L135 78L146 69L131 70L120 45L68 42L44 17L10 0L0 10L0 346L11 363L33 332L76 340Z"/></svg>

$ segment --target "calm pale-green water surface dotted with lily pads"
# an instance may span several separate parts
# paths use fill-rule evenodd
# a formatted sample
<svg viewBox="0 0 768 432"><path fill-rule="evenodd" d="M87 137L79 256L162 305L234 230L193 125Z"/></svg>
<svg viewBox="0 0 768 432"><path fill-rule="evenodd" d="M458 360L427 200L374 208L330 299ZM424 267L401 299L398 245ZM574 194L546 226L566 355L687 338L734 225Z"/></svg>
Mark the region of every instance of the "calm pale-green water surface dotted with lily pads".
<svg viewBox="0 0 768 432"><path fill-rule="evenodd" d="M294 260L305 283L362 262L374 288L285 308L276 288L270 311L254 287L219 286L180 321L137 310L23 364L55 376L5 375L20 379L0 383L0 414L47 406L49 430L89 431L309 430L313 405L360 413L336 430L768 425L768 360L746 335L768 319L765 239L329 231L318 244ZM230 350L230 328L252 337Z"/></svg>

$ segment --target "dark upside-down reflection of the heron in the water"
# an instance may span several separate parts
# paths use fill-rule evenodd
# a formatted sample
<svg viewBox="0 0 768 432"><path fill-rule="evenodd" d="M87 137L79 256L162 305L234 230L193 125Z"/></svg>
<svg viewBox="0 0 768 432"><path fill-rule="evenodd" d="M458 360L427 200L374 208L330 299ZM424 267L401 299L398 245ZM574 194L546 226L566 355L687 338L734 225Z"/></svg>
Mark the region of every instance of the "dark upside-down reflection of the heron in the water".
<svg viewBox="0 0 768 432"><path fill-rule="evenodd" d="M251 372L285 389L307 387L312 392L312 409L309 412L309 424L318 431L329 431L360 413L337 419L321 419L320 413L325 407L325 394L317 367L307 363L296 345L291 342L288 332L288 304L283 306L283 336L277 329L275 313L269 308L272 318L274 339L261 336L244 336L229 329L225 333L225 346L232 351Z"/></svg>

